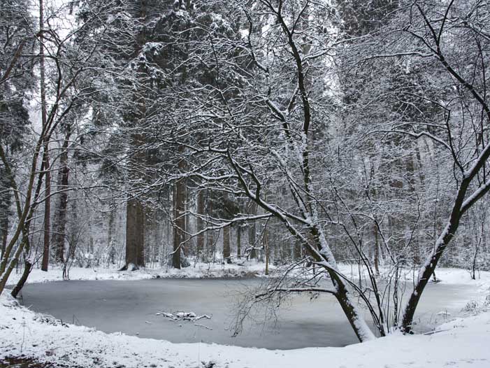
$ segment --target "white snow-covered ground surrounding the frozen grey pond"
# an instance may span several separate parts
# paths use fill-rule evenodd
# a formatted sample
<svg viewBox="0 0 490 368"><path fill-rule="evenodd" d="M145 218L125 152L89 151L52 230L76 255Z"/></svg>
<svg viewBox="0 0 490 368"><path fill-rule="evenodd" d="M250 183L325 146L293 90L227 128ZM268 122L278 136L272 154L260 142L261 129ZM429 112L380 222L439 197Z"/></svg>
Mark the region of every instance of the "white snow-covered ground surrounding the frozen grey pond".
<svg viewBox="0 0 490 368"><path fill-rule="evenodd" d="M236 267L202 273L194 269L147 269L133 273L107 269L72 269L73 279L138 279L160 277L233 276ZM243 276L261 275L263 265L246 267ZM60 280L61 270L34 271L30 282ZM347 271L347 268L346 270ZM238 272L238 274L242 274ZM41 277L42 276L42 277ZM468 301L464 318L440 325L435 332L403 336L395 333L345 348L303 348L271 351L217 344L172 344L124 334L106 334L88 327L66 325L20 306L8 295L0 297L0 367L490 367L490 272L476 281L468 271L439 269L442 283L466 284L480 290L480 300ZM7 358L15 358L15 360ZM3 363L2 363L3 361ZM15 365L14 365L15 364Z"/></svg>

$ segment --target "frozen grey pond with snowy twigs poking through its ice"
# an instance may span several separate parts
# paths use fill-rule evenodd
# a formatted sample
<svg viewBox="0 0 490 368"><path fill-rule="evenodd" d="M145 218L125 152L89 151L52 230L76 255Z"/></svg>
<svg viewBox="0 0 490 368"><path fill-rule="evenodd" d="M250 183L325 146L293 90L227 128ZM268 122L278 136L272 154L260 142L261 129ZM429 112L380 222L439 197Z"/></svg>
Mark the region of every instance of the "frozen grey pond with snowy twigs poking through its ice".
<svg viewBox="0 0 490 368"><path fill-rule="evenodd" d="M260 323L255 316L238 337L231 337L233 300L238 290L258 285L258 279L175 279L143 281L59 281L26 285L24 304L66 323L95 327L104 332L124 332L175 343L207 342L260 348L345 346L357 342L335 299L322 295L310 302L294 297L280 310L278 325ZM465 285L429 284L416 320L422 324L443 321L440 311L457 314L472 291ZM194 311L210 320L174 322L159 311ZM212 330L210 330L212 329Z"/></svg>

